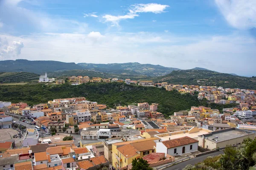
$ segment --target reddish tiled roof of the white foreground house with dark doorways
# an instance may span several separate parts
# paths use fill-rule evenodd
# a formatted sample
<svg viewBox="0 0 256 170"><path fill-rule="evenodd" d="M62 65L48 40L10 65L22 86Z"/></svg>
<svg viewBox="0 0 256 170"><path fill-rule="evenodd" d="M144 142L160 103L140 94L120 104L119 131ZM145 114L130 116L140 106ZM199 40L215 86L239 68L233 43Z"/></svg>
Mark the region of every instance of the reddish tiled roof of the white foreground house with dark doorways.
<svg viewBox="0 0 256 170"><path fill-rule="evenodd" d="M195 140L193 138L190 138L188 136L177 138L177 139L171 139L168 141L163 141L162 143L167 147L167 148L172 148L172 147L178 147L178 146L183 146L185 144L191 144L198 142L198 140Z"/></svg>

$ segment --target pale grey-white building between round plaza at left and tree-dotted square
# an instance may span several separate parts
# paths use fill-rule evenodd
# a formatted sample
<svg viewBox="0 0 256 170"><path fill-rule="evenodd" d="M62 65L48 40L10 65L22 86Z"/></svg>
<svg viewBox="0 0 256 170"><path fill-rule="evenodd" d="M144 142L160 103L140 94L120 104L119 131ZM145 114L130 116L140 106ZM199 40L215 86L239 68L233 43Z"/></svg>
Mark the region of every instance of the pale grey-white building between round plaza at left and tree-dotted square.
<svg viewBox="0 0 256 170"><path fill-rule="evenodd" d="M35 129L27 129L26 135L23 139L23 147L38 144L39 134Z"/></svg>

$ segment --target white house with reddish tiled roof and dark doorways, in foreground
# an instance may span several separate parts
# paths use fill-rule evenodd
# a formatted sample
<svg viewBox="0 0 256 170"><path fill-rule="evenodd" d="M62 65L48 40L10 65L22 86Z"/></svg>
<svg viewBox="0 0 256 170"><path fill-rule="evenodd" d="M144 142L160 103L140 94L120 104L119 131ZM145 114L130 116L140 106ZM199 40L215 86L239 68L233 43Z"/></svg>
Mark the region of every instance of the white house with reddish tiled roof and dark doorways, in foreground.
<svg viewBox="0 0 256 170"><path fill-rule="evenodd" d="M177 156L198 150L198 140L188 136L156 143L157 153Z"/></svg>

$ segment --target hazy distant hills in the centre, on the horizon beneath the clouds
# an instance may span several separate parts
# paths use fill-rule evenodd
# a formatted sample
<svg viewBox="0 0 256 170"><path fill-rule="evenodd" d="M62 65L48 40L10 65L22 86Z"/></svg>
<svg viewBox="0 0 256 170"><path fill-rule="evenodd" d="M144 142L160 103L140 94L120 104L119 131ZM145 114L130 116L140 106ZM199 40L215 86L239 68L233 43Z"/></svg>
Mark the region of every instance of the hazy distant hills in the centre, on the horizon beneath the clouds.
<svg viewBox="0 0 256 170"><path fill-rule="evenodd" d="M140 64L138 62L111 64L78 63L78 65L92 71L101 71L122 75L146 75L150 77L163 76L171 73L174 70L180 70L178 68L169 68L161 65Z"/></svg>

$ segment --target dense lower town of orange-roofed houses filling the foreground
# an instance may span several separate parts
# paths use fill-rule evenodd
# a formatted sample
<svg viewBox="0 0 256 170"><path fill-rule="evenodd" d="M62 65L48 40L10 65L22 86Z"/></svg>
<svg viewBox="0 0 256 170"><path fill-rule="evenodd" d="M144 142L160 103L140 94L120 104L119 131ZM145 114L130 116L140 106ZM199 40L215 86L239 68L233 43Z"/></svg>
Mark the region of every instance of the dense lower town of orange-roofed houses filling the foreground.
<svg viewBox="0 0 256 170"><path fill-rule="evenodd" d="M0 168L4 170L116 170L131 169L132 160L143 158L150 167L162 166L200 156L205 151L237 145L245 138L254 139L254 106L219 110L192 106L190 111L175 112L168 119L157 112L157 103L117 106L87 101L84 97L54 99L31 108L26 103L0 102L5 113L13 108L29 108L28 116L45 133L78 133L74 141L45 143L38 129L27 129L22 148L12 142L0 144ZM250 109L249 109L250 108ZM17 109L17 110L19 110ZM15 112L23 115L23 112ZM1 117L2 116L2 117Z"/></svg>

